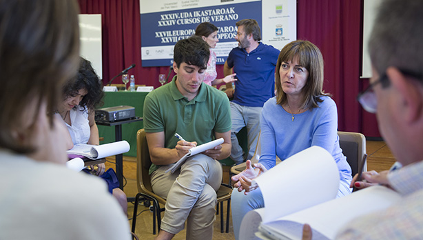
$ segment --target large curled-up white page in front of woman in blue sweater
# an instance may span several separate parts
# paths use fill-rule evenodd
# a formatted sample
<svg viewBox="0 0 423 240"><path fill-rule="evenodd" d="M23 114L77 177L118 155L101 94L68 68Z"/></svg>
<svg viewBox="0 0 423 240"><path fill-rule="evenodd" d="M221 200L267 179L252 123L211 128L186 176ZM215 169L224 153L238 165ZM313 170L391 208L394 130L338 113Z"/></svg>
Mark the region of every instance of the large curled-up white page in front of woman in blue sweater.
<svg viewBox="0 0 423 240"><path fill-rule="evenodd" d="M255 181L265 200L263 222L267 223L335 199L340 175L332 155L324 148L312 146L285 159Z"/></svg>

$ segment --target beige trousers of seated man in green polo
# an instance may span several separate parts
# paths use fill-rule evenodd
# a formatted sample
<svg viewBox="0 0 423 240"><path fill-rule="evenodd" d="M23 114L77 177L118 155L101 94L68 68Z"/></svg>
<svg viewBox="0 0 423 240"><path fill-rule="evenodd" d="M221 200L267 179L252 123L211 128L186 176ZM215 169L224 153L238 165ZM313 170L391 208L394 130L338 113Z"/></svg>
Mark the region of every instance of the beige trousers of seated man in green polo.
<svg viewBox="0 0 423 240"><path fill-rule="evenodd" d="M161 229L176 234L187 220L187 239L212 239L216 192L222 182L222 166L204 154L183 163L173 174L162 166L152 173L154 193L166 199Z"/></svg>

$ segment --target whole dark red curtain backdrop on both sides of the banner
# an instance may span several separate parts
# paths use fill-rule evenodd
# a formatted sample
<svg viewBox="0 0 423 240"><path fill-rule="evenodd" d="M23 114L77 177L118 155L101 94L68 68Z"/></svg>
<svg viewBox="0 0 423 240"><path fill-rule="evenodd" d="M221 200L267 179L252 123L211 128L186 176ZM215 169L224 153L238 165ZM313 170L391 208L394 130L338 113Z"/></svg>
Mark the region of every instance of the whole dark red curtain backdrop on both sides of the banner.
<svg viewBox="0 0 423 240"><path fill-rule="evenodd" d="M339 130L380 137L375 115L364 112L355 100L369 82L360 79L363 0L297 2L297 36L322 51L324 90L333 94L337 103ZM141 66L139 0L79 0L79 5L81 13L102 14L103 82L135 63L130 74L135 75L136 84L160 86L158 74L167 74L169 68ZM223 77L223 66L217 66L217 71L218 77Z"/></svg>

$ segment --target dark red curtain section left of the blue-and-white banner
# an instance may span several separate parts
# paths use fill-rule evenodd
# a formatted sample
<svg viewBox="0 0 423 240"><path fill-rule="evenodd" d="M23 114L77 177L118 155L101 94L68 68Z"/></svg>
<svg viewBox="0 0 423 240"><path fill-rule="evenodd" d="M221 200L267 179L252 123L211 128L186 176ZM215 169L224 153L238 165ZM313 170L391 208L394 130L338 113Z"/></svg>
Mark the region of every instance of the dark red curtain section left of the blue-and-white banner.
<svg viewBox="0 0 423 240"><path fill-rule="evenodd" d="M167 74L168 67L141 67L141 20L139 0L78 0L82 14L101 14L103 48L103 83L123 69L130 70L136 84L160 86L158 74ZM171 74L172 77L174 74ZM169 78L170 78L169 77ZM117 78L114 83L121 83Z"/></svg>

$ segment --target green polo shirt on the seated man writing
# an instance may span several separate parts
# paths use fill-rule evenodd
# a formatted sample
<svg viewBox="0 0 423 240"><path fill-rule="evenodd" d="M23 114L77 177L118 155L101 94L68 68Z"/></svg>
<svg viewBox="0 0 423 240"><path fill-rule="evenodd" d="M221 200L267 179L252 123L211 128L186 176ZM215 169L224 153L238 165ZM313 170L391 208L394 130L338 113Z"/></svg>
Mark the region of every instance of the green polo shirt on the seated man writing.
<svg viewBox="0 0 423 240"><path fill-rule="evenodd" d="M188 101L176 88L176 76L147 94L144 101L145 132L165 132L165 148L175 148L177 132L198 145L214 139L214 132L231 130L231 110L225 92L201 83L198 94ZM149 174L158 166L152 164Z"/></svg>

